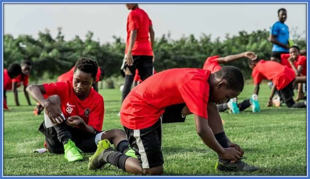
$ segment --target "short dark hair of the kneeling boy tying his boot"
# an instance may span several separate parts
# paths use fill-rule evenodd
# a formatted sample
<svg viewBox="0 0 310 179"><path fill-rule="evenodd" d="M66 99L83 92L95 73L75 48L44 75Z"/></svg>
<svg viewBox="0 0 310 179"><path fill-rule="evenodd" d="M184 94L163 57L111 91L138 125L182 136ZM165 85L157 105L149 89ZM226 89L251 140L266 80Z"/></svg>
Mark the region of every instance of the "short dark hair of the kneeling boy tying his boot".
<svg viewBox="0 0 310 179"><path fill-rule="evenodd" d="M227 81L227 89L236 92L242 92L244 87L244 78L240 69L234 66L224 66L215 72L215 78L225 79Z"/></svg>

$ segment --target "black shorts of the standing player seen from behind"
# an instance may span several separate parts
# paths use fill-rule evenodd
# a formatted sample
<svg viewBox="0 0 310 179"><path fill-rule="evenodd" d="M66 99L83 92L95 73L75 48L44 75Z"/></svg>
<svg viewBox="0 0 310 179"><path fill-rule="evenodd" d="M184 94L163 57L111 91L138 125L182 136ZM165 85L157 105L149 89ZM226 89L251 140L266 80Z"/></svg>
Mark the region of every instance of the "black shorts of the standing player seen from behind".
<svg viewBox="0 0 310 179"><path fill-rule="evenodd" d="M125 62L124 69L128 67L133 76L135 76L136 69L138 69L142 81L154 74L153 56L134 55L132 57L134 60L133 65L128 66Z"/></svg>

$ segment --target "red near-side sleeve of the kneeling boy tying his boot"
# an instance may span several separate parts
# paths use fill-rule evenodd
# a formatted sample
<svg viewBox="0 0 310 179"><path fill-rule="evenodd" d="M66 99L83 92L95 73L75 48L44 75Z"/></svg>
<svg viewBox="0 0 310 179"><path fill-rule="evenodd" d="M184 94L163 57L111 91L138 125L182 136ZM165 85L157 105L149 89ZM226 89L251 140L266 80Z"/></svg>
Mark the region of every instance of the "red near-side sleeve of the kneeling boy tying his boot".
<svg viewBox="0 0 310 179"><path fill-rule="evenodd" d="M182 84L179 91L190 112L208 119L209 84L204 79L194 76Z"/></svg>

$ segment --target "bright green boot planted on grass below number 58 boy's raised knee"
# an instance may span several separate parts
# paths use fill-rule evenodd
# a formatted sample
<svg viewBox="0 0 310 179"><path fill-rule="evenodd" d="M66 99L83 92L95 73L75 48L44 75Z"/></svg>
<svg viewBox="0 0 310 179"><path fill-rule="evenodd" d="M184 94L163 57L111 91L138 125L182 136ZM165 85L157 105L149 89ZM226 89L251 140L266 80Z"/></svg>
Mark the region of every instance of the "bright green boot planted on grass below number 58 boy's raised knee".
<svg viewBox="0 0 310 179"><path fill-rule="evenodd" d="M71 140L64 144L64 158L69 162L83 160L81 152L82 151L76 147L75 143Z"/></svg>

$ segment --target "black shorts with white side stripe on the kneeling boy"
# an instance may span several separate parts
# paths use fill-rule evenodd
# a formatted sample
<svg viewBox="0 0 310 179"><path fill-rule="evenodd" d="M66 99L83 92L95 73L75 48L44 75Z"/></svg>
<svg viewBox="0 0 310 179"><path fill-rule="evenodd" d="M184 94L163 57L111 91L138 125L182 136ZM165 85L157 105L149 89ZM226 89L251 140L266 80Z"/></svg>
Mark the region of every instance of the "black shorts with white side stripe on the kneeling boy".
<svg viewBox="0 0 310 179"><path fill-rule="evenodd" d="M185 104L166 107L165 112L152 126L144 129L129 129L124 126L131 148L135 151L143 169L164 164L162 155L162 123L184 122L181 112Z"/></svg>

